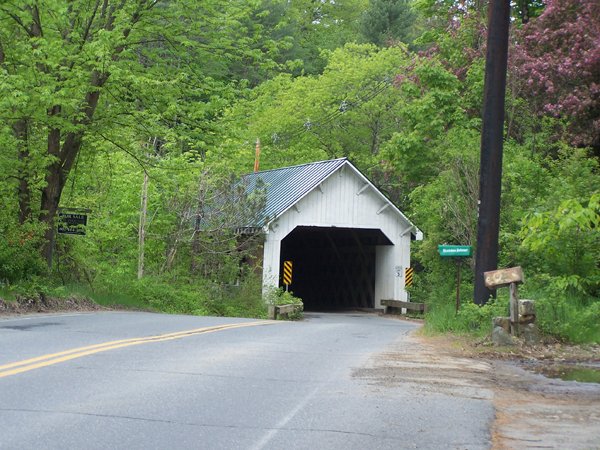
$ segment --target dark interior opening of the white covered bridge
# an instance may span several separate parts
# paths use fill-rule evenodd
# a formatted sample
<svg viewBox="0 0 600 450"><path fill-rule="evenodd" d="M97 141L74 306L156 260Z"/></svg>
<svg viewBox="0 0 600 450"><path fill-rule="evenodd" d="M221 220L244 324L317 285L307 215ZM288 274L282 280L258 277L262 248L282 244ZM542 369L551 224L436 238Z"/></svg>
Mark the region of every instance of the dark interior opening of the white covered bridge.
<svg viewBox="0 0 600 450"><path fill-rule="evenodd" d="M381 230L296 227L281 242L280 273L292 261L290 291L307 311L373 308L377 245L392 245Z"/></svg>

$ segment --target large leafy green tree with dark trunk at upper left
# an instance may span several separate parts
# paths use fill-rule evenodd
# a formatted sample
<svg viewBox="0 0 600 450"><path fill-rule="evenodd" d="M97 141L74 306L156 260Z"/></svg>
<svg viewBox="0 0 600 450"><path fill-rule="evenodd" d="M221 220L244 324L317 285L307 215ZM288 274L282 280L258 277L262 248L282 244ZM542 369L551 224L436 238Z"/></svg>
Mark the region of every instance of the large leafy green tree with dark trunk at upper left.
<svg viewBox="0 0 600 450"><path fill-rule="evenodd" d="M228 67L263 57L250 45L237 46L242 36L250 39L240 24L255 6L155 0L0 6L0 140L12 152L7 172L19 222L45 225L48 261L54 218L82 150L107 141L140 158L140 141L158 136L164 151L202 155L214 134L203 122L239 87Z"/></svg>

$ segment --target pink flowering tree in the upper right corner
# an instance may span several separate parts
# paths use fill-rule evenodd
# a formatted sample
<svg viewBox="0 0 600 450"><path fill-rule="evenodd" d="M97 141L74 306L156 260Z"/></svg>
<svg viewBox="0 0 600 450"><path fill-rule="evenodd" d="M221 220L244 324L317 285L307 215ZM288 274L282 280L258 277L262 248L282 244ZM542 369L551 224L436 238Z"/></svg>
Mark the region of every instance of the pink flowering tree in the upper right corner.
<svg viewBox="0 0 600 450"><path fill-rule="evenodd" d="M546 0L517 33L511 66L540 115L565 118L577 146L600 150L600 2Z"/></svg>

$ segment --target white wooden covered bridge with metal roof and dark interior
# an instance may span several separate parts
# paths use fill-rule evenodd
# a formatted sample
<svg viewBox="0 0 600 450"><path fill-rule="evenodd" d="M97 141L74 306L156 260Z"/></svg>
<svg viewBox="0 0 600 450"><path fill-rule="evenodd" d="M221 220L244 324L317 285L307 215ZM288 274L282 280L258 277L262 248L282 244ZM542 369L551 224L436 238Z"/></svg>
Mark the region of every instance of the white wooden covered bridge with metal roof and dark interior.
<svg viewBox="0 0 600 450"><path fill-rule="evenodd" d="M291 261L289 288L307 310L408 300L410 244L422 233L346 158L256 172L243 183L266 194L256 224L265 235L264 290L283 285Z"/></svg>

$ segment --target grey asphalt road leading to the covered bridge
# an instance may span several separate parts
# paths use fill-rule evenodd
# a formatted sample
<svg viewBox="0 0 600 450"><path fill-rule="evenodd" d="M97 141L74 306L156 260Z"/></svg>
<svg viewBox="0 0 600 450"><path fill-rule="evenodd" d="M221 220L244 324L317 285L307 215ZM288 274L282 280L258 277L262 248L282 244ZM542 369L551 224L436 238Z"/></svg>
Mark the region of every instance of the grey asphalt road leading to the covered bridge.
<svg viewBox="0 0 600 450"><path fill-rule="evenodd" d="M481 388L359 375L414 329L368 314L0 318L0 448L489 448Z"/></svg>

